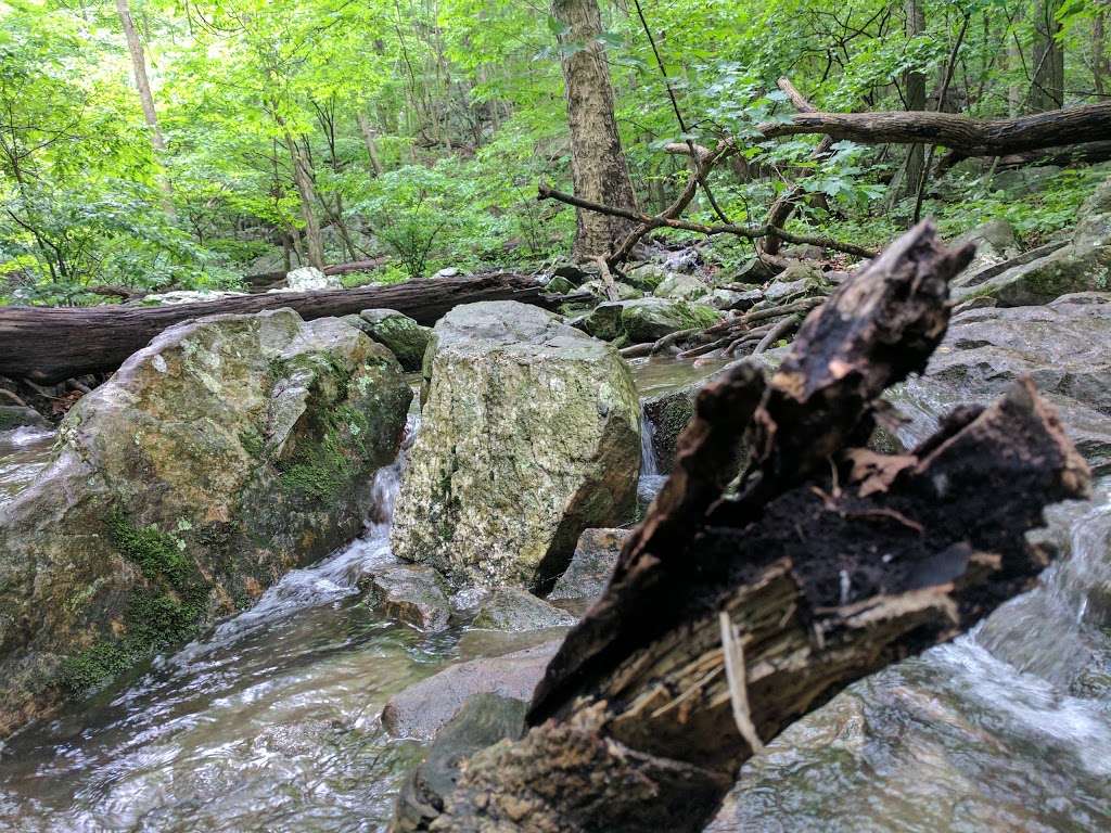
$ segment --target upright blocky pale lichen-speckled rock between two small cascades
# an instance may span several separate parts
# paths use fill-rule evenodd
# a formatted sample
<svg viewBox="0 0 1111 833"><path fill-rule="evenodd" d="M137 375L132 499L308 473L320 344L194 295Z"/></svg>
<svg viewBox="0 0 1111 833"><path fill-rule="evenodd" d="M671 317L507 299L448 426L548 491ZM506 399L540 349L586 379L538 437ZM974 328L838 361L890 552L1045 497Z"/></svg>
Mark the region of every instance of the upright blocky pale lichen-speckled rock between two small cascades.
<svg viewBox="0 0 1111 833"><path fill-rule="evenodd" d="M533 585L579 533L627 520L640 407L609 344L514 301L457 307L424 359L391 543L453 585Z"/></svg>

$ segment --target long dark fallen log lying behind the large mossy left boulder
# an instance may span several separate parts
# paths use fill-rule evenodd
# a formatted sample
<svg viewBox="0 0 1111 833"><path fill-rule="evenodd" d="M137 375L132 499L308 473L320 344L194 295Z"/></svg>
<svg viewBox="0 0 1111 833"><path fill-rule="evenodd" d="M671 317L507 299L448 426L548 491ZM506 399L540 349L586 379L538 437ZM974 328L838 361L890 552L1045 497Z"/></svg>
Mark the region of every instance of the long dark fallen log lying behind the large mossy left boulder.
<svg viewBox="0 0 1111 833"><path fill-rule="evenodd" d="M0 375L58 382L116 370L171 324L201 315L254 313L289 307L304 319L392 309L431 324L453 307L476 301L522 301L554 309L530 275L490 273L407 281L327 292L239 295L167 307L0 308Z"/></svg>

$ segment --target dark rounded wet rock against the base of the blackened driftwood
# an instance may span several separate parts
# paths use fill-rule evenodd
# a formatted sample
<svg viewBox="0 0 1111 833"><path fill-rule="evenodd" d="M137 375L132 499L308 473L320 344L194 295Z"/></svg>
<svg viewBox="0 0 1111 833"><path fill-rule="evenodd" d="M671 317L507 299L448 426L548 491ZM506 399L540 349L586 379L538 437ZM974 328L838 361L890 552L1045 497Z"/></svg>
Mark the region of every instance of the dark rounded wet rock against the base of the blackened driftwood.
<svg viewBox="0 0 1111 833"><path fill-rule="evenodd" d="M406 780L398 796L392 833L427 831L459 781L460 763L498 741L524 731L527 704L497 694L476 694L437 732L424 762Z"/></svg>

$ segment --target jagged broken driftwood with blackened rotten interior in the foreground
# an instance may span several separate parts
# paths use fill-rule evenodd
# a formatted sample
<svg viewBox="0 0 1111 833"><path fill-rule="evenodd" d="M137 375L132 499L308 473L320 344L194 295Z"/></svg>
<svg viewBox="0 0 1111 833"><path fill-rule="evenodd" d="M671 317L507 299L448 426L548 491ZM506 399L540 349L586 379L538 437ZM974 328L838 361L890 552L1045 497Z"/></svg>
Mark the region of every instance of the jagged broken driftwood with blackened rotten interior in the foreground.
<svg viewBox="0 0 1111 833"><path fill-rule="evenodd" d="M785 725L1031 586L1048 556L1024 532L1090 474L1029 381L908 454L863 448L883 390L943 337L971 254L915 227L809 315L770 381L742 363L700 393L524 736L466 761L429 830L700 831Z"/></svg>

